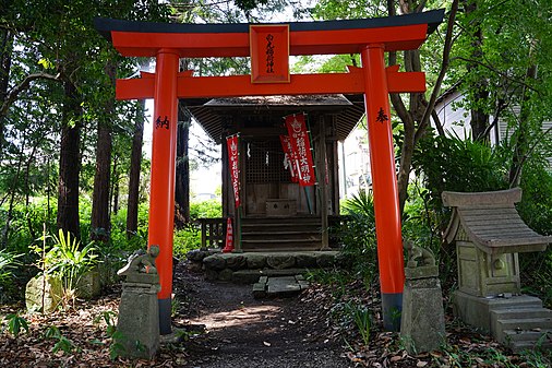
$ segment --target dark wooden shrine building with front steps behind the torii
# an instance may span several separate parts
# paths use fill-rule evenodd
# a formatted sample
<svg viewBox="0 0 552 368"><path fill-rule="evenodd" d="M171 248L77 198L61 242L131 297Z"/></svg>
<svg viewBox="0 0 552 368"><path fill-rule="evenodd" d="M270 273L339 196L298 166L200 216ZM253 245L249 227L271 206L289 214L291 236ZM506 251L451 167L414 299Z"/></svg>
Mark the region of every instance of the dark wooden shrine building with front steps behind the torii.
<svg viewBox="0 0 552 368"><path fill-rule="evenodd" d="M248 96L187 105L223 145L223 216L233 219L236 249L327 249L329 223L339 215L337 142L362 118L362 95ZM310 187L292 181L279 139L287 134L284 118L301 112L307 115L316 174ZM228 171L226 136L233 134L239 134L241 211L236 210Z"/></svg>

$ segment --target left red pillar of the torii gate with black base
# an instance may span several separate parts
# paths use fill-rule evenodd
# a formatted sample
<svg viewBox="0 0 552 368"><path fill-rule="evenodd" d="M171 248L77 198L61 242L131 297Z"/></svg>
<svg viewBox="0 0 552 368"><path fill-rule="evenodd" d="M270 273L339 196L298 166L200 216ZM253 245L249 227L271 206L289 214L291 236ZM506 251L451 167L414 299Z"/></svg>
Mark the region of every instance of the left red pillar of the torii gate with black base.
<svg viewBox="0 0 552 368"><path fill-rule="evenodd" d="M147 244L148 246L158 245L161 250L155 261L159 273L159 284L161 285L161 290L157 295L159 302L159 332L161 335L171 332L178 66L178 52L170 49L160 49L157 52Z"/></svg>

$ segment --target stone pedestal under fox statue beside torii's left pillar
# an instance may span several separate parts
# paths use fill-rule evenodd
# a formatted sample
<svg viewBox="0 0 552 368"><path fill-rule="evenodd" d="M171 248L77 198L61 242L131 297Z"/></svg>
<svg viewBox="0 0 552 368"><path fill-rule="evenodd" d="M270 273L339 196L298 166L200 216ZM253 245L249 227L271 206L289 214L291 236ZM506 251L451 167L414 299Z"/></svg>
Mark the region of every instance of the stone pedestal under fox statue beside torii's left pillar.
<svg viewBox="0 0 552 368"><path fill-rule="evenodd" d="M123 283L117 330L121 356L152 359L159 348L159 284Z"/></svg>

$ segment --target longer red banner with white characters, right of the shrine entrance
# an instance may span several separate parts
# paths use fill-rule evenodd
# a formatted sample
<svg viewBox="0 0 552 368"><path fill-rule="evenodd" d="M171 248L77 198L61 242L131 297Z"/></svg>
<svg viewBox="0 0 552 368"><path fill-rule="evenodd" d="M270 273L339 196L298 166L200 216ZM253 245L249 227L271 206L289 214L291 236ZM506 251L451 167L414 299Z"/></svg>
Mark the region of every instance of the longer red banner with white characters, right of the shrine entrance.
<svg viewBox="0 0 552 368"><path fill-rule="evenodd" d="M303 187L314 186L316 178L314 176L311 143L309 141L307 123L304 122L304 114L287 116L286 127L297 158L299 185Z"/></svg>

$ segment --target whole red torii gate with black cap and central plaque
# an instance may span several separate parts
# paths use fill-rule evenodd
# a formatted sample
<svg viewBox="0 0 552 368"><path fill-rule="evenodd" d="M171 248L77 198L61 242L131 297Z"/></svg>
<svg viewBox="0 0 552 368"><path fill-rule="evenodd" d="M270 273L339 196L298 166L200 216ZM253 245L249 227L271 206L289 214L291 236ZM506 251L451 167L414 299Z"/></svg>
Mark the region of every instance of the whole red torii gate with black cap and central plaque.
<svg viewBox="0 0 552 368"><path fill-rule="evenodd" d="M148 245L159 245L159 327L171 332L172 234L178 98L364 94L373 177L384 325L397 330L404 259L388 93L424 92L423 72L385 68L384 52L417 49L444 10L370 20L289 24L169 24L97 19L128 57L155 57L155 73L118 80L118 99L154 98ZM289 55L360 54L348 73L289 74ZM251 57L252 75L193 76L179 58Z"/></svg>

